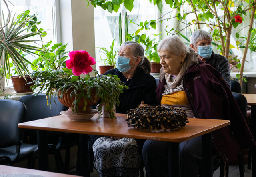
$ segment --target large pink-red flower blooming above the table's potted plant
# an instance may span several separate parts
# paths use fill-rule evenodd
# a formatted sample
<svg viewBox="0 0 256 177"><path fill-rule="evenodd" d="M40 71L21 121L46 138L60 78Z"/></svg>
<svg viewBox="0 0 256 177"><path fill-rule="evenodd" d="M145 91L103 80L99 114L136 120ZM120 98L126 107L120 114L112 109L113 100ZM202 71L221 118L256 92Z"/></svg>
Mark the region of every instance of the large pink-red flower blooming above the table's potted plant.
<svg viewBox="0 0 256 177"><path fill-rule="evenodd" d="M76 50L68 53L70 59L66 60L66 67L72 69L74 75L81 73L87 74L92 71L91 65L94 65L95 59L90 57L85 50Z"/></svg>

